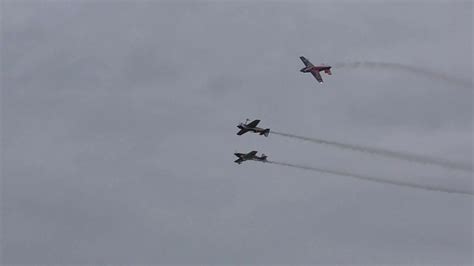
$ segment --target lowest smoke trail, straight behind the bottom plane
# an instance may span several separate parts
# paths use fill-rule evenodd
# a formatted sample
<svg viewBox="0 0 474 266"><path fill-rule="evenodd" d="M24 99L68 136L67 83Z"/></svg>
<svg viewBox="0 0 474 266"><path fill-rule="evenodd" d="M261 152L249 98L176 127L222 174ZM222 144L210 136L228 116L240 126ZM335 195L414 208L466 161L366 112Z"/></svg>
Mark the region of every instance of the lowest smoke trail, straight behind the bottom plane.
<svg viewBox="0 0 474 266"><path fill-rule="evenodd" d="M297 164L285 163L285 162L268 161L268 163L281 165L281 166L288 166L288 167L293 167L293 168L298 168L298 169L310 170L310 171L315 171L315 172L320 172L320 173L326 173L326 174L331 174L331 175L348 176L348 177L353 177L357 179L362 179L362 180L367 180L367 181L372 181L372 182L377 182L377 183L391 184L391 185L402 186L402 187L411 187L411 188L417 188L417 189L423 189L423 190L448 192L448 193L456 193L456 194L466 194L466 195L471 195L471 196L474 195L472 191L464 190L464 189L450 189L450 188L443 188L443 187L437 187L437 186L431 186L431 185L414 184L414 183L409 183L409 182L404 182L404 181L387 180L387 179L381 179L377 177L353 174L353 173L336 171L336 170L328 170L328 169L310 167L310 166L304 166L304 165L297 165Z"/></svg>

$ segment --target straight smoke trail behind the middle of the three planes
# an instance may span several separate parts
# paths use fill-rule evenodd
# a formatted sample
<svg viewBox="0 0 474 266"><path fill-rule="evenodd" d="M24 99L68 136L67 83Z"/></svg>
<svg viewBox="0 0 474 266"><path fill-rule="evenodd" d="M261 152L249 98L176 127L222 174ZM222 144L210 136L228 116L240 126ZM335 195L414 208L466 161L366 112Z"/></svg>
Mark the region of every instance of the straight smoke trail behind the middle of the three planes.
<svg viewBox="0 0 474 266"><path fill-rule="evenodd" d="M293 134L288 134L288 133L283 133L283 132L277 132L277 131L271 131L271 133L275 135L284 136L284 137L310 141L313 143L331 145L331 146L338 147L341 149L346 149L346 150L359 151L359 152L375 154L375 155L395 158L395 159L404 160L404 161L423 163L423 164L432 164L432 165L437 165L444 168L472 172L472 165L460 163L460 162L452 162L452 161L448 161L444 159L431 158L428 156L410 154L406 152L391 151L391 150L373 148L373 147L365 147L365 146L360 146L360 145L347 144L347 143L323 140L323 139L318 139L318 138L308 138L308 137L303 137L303 136L298 136L298 135L293 135Z"/></svg>

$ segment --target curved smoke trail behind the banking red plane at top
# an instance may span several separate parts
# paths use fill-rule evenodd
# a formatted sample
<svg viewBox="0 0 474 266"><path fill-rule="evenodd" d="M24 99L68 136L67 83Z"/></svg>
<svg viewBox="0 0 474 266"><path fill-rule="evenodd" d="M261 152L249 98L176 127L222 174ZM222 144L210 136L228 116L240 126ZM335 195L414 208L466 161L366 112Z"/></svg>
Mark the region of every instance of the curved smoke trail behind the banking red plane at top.
<svg viewBox="0 0 474 266"><path fill-rule="evenodd" d="M438 73L432 70L403 65L399 63L387 63L387 62L352 62L352 63L335 63L334 68L384 68L388 70L396 70L407 73L414 73L417 75L422 75L427 78L437 79L440 81L445 81L451 84L455 84L464 88L472 88L472 80L463 80L460 78L452 77L443 73Z"/></svg>

